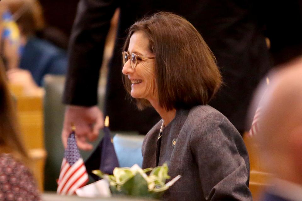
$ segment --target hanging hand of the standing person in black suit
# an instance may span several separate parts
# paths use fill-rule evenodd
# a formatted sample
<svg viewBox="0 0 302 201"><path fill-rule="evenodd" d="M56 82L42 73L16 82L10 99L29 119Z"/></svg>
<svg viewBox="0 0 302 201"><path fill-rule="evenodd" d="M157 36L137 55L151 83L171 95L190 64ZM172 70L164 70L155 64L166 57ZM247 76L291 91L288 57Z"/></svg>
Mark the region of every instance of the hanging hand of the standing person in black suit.
<svg viewBox="0 0 302 201"><path fill-rule="evenodd" d="M104 127L103 114L98 106L66 106L62 141L67 146L67 139L71 132L71 123L76 127L76 140L78 147L83 150L91 150L92 144L98 137L99 130Z"/></svg>

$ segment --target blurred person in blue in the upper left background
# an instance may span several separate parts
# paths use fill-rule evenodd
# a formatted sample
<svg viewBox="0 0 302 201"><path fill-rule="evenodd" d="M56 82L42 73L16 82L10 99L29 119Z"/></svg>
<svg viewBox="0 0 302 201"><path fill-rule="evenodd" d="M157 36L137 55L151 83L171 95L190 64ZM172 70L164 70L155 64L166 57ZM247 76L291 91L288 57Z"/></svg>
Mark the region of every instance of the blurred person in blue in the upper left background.
<svg viewBox="0 0 302 201"><path fill-rule="evenodd" d="M20 47L9 42L3 45L8 79L13 84L41 86L45 74L64 74L67 54L52 43L37 38L36 32L44 27L42 9L36 0L2 0L0 6L8 9L20 30ZM2 19L4 20L4 19ZM13 56L14 55L14 56ZM14 65L9 59L14 57ZM32 78L31 78L32 77Z"/></svg>

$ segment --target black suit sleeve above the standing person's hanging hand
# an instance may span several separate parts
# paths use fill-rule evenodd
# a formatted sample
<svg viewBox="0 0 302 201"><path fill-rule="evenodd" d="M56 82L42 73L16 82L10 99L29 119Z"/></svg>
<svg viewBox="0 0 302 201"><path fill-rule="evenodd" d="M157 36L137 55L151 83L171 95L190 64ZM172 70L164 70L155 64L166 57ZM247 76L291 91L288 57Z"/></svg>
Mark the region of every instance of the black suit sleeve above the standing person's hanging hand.
<svg viewBox="0 0 302 201"><path fill-rule="evenodd" d="M69 44L63 102L96 105L99 71L115 0L80 0Z"/></svg>

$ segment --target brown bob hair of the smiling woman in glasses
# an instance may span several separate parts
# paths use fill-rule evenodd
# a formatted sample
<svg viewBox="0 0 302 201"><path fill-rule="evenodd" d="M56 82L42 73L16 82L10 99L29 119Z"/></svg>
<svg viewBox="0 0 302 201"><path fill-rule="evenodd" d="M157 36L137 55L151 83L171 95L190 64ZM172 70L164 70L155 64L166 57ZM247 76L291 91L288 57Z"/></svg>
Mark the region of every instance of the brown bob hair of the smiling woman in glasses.
<svg viewBox="0 0 302 201"><path fill-rule="evenodd" d="M136 31L149 39L149 50L155 55L155 79L159 106L167 111L207 104L221 85L221 74L209 46L195 27L185 18L159 12L141 19L129 28L123 51ZM124 76L130 93L131 82ZM137 99L137 107L150 106L148 100Z"/></svg>

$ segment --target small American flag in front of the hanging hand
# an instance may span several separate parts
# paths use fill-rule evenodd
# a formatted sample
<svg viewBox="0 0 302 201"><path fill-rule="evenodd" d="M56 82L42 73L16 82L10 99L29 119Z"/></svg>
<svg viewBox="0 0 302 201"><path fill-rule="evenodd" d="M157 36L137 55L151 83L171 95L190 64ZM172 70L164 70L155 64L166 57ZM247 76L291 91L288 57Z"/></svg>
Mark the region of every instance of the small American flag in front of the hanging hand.
<svg viewBox="0 0 302 201"><path fill-rule="evenodd" d="M87 182L88 174L86 167L78 146L76 145L75 132L72 131L64 153L57 193L61 195L72 195L76 189L85 186Z"/></svg>

